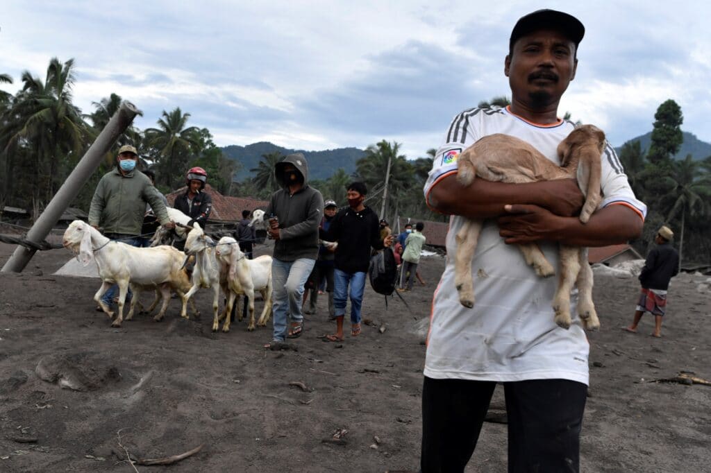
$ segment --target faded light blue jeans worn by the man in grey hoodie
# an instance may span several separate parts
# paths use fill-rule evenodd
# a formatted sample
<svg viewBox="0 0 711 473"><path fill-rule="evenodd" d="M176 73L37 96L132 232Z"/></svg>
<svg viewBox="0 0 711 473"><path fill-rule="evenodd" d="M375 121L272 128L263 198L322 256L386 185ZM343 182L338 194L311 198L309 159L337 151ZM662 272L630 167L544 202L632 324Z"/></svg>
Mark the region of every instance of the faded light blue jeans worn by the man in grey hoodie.
<svg viewBox="0 0 711 473"><path fill-rule="evenodd" d="M301 322L301 299L304 284L309 279L315 259L300 258L296 261L272 259L272 311L274 313L274 339L284 341L287 337L289 316L292 322Z"/></svg>

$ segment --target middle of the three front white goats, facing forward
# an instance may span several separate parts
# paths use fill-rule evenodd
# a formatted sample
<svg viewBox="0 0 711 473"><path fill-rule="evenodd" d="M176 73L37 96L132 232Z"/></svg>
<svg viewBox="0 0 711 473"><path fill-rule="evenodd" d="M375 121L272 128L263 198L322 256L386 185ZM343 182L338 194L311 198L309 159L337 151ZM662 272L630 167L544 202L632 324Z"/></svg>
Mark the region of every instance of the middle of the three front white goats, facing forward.
<svg viewBox="0 0 711 473"><path fill-rule="evenodd" d="M192 277L193 287L183 295L181 317L188 318L186 304L193 294L198 292L198 289L211 288L213 290L213 312L215 319L217 319L220 299L220 263L215 258L215 241L205 235L200 224L194 223L193 229L188 233L185 253L188 256L195 255L195 267ZM213 328L213 330L215 329Z"/></svg>

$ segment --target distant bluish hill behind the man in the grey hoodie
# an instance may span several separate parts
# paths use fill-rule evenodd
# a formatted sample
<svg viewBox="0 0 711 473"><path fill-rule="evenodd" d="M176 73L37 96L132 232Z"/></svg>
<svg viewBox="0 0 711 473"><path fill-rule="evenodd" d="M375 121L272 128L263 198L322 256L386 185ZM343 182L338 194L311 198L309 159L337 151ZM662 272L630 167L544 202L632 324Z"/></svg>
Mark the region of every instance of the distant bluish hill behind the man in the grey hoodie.
<svg viewBox="0 0 711 473"><path fill-rule="evenodd" d="M326 151L304 151L282 148L267 141L252 143L247 146L225 146L223 153L230 159L242 163L242 169L235 174L235 180L243 180L253 176L250 169L257 168L262 155L274 152L282 153L284 156L291 153L304 153L306 161L309 161L309 179L328 179L338 168L343 168L346 174L355 172L355 162L363 157L365 152L358 148L338 148Z"/></svg>

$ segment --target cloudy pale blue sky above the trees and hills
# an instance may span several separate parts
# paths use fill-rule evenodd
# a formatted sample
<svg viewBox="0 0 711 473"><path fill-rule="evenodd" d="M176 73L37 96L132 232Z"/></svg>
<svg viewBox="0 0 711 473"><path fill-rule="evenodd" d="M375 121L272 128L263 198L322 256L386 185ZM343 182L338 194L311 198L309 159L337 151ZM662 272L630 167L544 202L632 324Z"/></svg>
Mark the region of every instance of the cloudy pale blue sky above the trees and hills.
<svg viewBox="0 0 711 473"><path fill-rule="evenodd" d="M711 141L711 6L647 1L32 1L0 3L0 72L21 87L75 59L75 102L119 94L140 128L181 107L220 146L365 148L408 158L439 146L452 116L506 94L515 21L539 8L586 26L560 113L615 146L651 131L675 99L684 131Z"/></svg>

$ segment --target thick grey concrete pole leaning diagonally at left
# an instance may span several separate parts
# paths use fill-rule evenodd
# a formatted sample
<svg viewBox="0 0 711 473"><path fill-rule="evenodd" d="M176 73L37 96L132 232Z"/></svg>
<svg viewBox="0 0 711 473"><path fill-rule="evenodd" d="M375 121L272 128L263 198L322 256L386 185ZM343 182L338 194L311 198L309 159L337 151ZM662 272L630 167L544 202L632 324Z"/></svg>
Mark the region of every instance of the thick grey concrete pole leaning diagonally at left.
<svg viewBox="0 0 711 473"><path fill-rule="evenodd" d="M49 202L44 212L37 219L32 228L27 232L28 241L40 243L44 241L52 228L57 224L59 218L69 207L70 203L77 197L77 194L86 183L92 173L99 167L106 153L111 149L116 140L132 123L138 111L136 107L128 102L121 104L118 111L97 136L96 141L88 149L79 163L64 181L52 200ZM18 245L10 259L5 263L0 272L21 273L30 262L36 250L26 249Z"/></svg>

